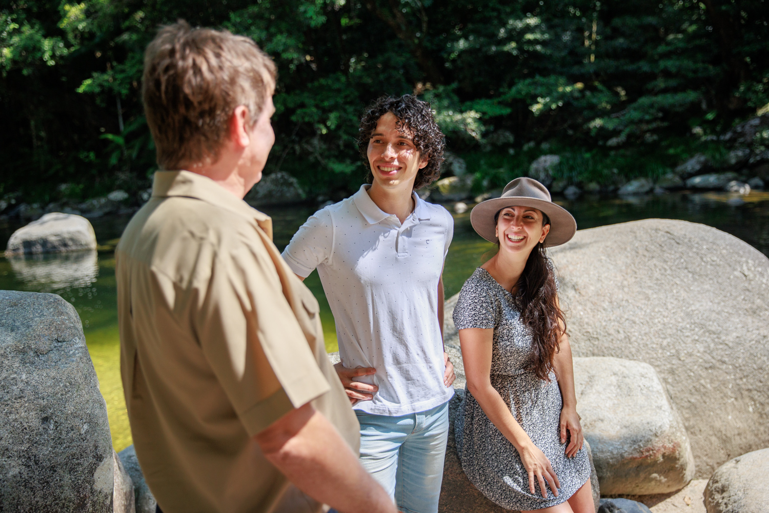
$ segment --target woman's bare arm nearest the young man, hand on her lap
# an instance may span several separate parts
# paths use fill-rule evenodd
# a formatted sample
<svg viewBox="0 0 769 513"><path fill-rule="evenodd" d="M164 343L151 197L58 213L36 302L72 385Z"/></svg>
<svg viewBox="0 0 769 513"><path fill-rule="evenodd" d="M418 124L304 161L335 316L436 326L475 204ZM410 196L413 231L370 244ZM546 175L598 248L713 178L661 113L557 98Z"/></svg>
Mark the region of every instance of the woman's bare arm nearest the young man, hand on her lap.
<svg viewBox="0 0 769 513"><path fill-rule="evenodd" d="M544 481L548 481L553 494L558 496L558 476L548 458L528 437L526 431L515 420L508 405L504 404L499 392L491 386L491 347L494 330L468 328L459 330L459 342L462 348L464 374L468 380L468 391L478 405L481 405L489 420L501 431L504 438L518 450L524 467L529 475L529 490L534 493L534 479L539 482L543 497L547 497Z"/></svg>

